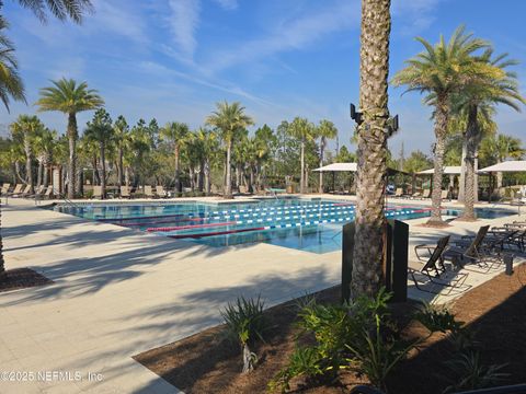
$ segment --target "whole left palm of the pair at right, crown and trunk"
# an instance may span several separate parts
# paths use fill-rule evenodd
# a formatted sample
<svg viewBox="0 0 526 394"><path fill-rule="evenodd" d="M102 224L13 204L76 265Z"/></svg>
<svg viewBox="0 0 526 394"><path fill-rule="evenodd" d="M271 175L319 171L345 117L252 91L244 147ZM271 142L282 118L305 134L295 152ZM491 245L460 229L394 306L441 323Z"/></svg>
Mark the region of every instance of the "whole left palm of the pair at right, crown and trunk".
<svg viewBox="0 0 526 394"><path fill-rule="evenodd" d="M424 46L424 51L407 61L408 67L400 70L392 83L407 85L407 92L426 93L424 103L434 106L435 138L434 174L432 192L432 213L427 221L432 225L443 225L441 215L442 177L444 165L444 147L449 121L451 95L460 92L466 81L477 70L473 53L488 47L484 40L465 34L465 27L458 27L446 44L444 37L431 45L422 37L416 37Z"/></svg>

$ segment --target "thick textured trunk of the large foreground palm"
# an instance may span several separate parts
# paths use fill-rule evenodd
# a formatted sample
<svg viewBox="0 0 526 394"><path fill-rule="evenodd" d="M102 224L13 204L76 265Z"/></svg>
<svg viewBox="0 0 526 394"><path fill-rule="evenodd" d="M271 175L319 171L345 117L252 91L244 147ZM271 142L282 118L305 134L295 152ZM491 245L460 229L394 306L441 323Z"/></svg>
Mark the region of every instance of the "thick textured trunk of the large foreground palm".
<svg viewBox="0 0 526 394"><path fill-rule="evenodd" d="M390 0L362 1L359 50L358 171L352 297L373 297L382 285L384 204L387 174L387 120Z"/></svg>

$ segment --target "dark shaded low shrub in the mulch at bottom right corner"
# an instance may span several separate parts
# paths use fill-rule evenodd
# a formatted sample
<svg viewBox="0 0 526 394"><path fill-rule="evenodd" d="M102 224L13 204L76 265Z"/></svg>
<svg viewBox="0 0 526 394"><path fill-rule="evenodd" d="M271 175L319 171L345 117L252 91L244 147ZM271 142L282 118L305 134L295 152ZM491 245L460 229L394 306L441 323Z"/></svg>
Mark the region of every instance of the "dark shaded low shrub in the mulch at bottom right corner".
<svg viewBox="0 0 526 394"><path fill-rule="evenodd" d="M444 393L491 387L502 384L508 376L507 373L502 372L506 364L485 367L482 364L478 351L470 350L459 354L458 357L446 361L445 364L451 371L447 375L451 384L445 389Z"/></svg>

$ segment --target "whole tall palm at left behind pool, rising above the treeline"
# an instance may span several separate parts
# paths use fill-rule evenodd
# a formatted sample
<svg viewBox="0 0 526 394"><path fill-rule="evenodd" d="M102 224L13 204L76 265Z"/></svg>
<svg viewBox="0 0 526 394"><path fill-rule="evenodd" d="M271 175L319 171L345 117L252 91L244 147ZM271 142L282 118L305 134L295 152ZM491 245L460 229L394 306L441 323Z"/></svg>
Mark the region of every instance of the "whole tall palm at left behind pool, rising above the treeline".
<svg viewBox="0 0 526 394"><path fill-rule="evenodd" d="M52 81L53 86L41 89L41 99L36 102L41 112L58 111L68 115L69 139L69 185L68 198L75 198L76 192L76 164L78 139L77 114L82 111L93 111L104 105L104 101L94 89L88 89L88 83L77 83L72 79L62 78Z"/></svg>

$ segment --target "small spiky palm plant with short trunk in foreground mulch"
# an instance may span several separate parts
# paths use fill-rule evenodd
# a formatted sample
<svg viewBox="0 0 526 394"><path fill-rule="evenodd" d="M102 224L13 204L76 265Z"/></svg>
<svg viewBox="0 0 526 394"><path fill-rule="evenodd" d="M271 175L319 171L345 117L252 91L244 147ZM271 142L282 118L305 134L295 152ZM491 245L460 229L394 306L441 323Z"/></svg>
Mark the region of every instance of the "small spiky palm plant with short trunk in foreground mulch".
<svg viewBox="0 0 526 394"><path fill-rule="evenodd" d="M243 373L253 371L258 363L258 356L250 348L255 339L263 340L266 321L263 314L264 302L261 297L245 299L240 297L236 303L228 303L221 311L221 316L227 325L227 335L241 345L243 350Z"/></svg>

